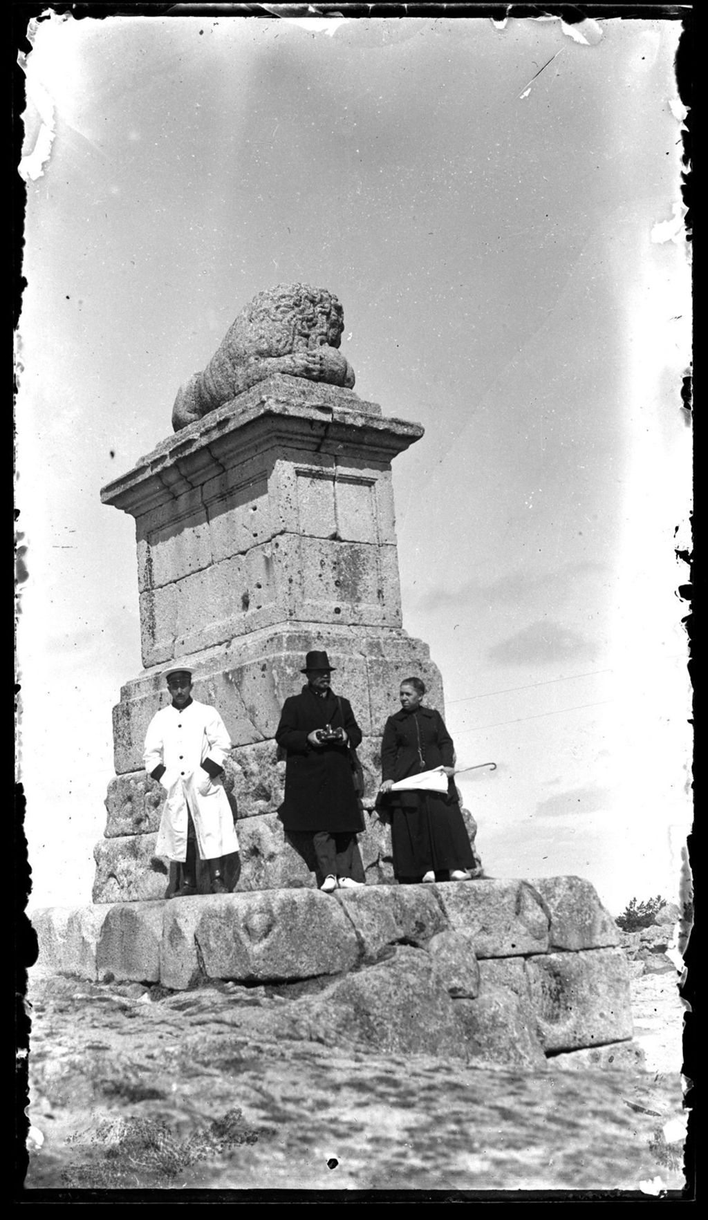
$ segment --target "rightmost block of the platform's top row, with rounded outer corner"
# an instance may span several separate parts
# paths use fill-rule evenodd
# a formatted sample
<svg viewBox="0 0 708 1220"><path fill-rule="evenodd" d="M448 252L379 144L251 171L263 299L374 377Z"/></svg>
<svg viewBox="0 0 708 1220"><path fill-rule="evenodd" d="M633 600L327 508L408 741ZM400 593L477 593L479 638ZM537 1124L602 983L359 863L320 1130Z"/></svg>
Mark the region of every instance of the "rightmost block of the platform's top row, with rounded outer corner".
<svg viewBox="0 0 708 1220"><path fill-rule="evenodd" d="M620 931L582 877L540 877L530 884L546 905L549 949L602 949L620 943Z"/></svg>

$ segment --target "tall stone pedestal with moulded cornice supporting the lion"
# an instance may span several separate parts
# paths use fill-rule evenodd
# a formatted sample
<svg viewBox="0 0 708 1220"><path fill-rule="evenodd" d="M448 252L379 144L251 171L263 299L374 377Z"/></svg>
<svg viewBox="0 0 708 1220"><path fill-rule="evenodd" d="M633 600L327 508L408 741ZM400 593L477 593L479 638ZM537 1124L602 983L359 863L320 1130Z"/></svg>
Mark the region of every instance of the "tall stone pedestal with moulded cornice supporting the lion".
<svg viewBox="0 0 708 1220"><path fill-rule="evenodd" d="M144 671L114 709L116 780L95 852L95 902L164 895L149 842L161 792L145 781L143 745L168 699L170 662L189 665L194 698L221 712L234 747L234 813L260 820L239 828L239 888L314 884L302 859L277 865L291 848L276 816L284 764L273 741L284 699L304 683L309 649L328 653L334 691L364 732L369 808L402 678L419 673L427 702L444 712L439 672L400 615L391 462L421 436L419 425L385 418L353 390L281 375L164 440L104 488L104 504L135 520ZM389 847L374 815L365 838L367 880L389 880ZM300 880L283 882L291 874Z"/></svg>

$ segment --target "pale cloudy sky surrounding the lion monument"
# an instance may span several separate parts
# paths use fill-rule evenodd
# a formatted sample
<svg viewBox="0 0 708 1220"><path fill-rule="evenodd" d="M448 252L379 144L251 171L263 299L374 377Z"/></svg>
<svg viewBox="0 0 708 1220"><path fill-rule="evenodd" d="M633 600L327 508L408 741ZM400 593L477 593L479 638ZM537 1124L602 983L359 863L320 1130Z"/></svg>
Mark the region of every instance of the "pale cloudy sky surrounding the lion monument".
<svg viewBox="0 0 708 1220"><path fill-rule="evenodd" d="M323 28L321 28L323 27ZM262 288L344 306L492 876L674 897L690 824L690 282L677 22L111 17L26 63L17 405L32 905L90 900L111 706L142 670L100 488ZM574 37L573 37L574 35ZM392 710L397 692L391 692Z"/></svg>

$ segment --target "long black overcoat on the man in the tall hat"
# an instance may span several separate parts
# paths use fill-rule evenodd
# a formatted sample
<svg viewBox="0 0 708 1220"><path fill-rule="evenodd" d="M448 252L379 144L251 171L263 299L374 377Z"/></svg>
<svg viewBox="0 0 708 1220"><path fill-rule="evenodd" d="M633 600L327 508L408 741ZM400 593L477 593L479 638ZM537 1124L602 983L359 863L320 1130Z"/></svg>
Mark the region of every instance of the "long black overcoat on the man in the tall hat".
<svg viewBox="0 0 708 1220"><path fill-rule="evenodd" d="M309 686L286 699L276 742L286 750L286 798L281 817L286 830L331 831L334 834L364 830L361 804L354 792L349 745L326 742L311 745L308 733L332 725L344 728L356 749L361 730L348 699L322 698Z"/></svg>

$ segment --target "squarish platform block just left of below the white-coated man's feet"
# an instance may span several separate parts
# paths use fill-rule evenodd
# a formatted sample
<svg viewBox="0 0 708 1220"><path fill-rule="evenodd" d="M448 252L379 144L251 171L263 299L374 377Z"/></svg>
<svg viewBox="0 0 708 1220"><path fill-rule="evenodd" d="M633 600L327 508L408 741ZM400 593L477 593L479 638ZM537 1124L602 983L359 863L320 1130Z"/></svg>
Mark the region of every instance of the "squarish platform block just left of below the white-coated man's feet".
<svg viewBox="0 0 708 1220"><path fill-rule="evenodd" d="M96 947L96 974L104 978L157 982L162 903L120 903L107 908Z"/></svg>

